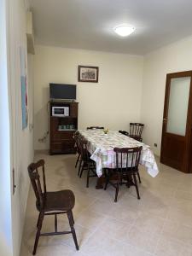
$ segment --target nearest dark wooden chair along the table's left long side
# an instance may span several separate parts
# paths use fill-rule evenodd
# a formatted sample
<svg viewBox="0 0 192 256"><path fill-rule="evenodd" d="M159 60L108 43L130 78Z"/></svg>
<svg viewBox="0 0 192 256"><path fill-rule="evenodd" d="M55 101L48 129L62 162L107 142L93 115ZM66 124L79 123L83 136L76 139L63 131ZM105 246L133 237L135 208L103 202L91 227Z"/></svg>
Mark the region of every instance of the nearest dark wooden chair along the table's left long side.
<svg viewBox="0 0 192 256"><path fill-rule="evenodd" d="M96 175L96 162L90 159L90 153L87 149L88 141L84 137L80 137L79 145L81 152L81 159L79 163L79 177L82 177L84 170L87 170L87 183L86 187L89 188L90 177L97 177Z"/></svg>

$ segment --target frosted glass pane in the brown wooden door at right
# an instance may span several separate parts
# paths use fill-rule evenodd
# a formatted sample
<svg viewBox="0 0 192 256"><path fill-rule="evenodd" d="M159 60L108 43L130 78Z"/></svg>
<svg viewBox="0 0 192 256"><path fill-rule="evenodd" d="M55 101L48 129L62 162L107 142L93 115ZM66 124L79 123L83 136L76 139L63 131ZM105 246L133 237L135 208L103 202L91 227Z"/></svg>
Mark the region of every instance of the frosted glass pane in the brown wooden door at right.
<svg viewBox="0 0 192 256"><path fill-rule="evenodd" d="M166 131L185 136L190 77L171 79Z"/></svg>

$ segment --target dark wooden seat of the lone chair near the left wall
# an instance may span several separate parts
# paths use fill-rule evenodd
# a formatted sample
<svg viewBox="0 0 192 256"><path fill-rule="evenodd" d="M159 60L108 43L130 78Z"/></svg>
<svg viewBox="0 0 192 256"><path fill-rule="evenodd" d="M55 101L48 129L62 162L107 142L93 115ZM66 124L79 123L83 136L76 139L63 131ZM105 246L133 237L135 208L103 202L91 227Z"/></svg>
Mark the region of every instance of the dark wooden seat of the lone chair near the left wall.
<svg viewBox="0 0 192 256"><path fill-rule="evenodd" d="M72 210L75 204L73 191L66 189L56 192L46 192L44 197L44 212ZM37 205L38 211L40 207Z"/></svg>

